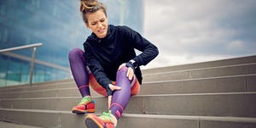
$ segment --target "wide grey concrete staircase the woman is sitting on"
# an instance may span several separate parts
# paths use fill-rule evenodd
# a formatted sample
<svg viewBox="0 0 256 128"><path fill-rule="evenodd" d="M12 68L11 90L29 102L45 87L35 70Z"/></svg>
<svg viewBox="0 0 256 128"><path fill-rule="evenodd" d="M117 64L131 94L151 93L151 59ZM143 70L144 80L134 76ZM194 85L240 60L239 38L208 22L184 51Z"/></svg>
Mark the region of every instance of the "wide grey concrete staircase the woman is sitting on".
<svg viewBox="0 0 256 128"><path fill-rule="evenodd" d="M97 114L107 111L107 98L91 93ZM84 128L84 115L70 112L80 98L72 79L3 87L0 121ZM143 70L118 127L255 128L256 56Z"/></svg>

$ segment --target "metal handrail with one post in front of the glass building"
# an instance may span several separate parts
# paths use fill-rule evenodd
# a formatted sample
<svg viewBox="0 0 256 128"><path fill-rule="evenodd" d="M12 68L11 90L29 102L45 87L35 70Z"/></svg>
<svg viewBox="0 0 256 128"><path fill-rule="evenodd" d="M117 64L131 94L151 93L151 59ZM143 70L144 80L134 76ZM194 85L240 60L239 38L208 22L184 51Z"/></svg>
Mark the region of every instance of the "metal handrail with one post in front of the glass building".
<svg viewBox="0 0 256 128"><path fill-rule="evenodd" d="M11 48L6 48L6 49L0 49L0 53L8 53L8 52L16 51L16 50L32 48L32 58L31 58L30 73L29 73L29 75L30 75L29 84L32 85L35 55L36 55L37 47L41 47L42 45L43 45L43 43L39 42L39 43L20 46L20 47L11 47Z"/></svg>

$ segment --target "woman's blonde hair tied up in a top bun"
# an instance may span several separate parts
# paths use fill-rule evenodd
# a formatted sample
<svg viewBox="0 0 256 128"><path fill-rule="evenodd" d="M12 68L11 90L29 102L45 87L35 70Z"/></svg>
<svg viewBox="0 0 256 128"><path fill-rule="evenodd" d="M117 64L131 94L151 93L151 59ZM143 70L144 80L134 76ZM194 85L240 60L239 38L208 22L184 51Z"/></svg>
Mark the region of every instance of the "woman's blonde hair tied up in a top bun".
<svg viewBox="0 0 256 128"><path fill-rule="evenodd" d="M80 3L80 12L82 13L82 17L85 23L88 23L88 19L86 14L95 13L96 11L102 9L104 14L107 17L107 11L103 3L99 3L97 0L81 0Z"/></svg>

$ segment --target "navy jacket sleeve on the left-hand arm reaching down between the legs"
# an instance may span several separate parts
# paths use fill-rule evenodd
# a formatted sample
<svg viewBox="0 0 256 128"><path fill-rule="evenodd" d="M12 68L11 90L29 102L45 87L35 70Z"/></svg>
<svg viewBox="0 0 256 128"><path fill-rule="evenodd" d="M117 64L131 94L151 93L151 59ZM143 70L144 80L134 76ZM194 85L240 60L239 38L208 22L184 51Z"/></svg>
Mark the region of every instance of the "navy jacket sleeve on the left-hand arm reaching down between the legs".
<svg viewBox="0 0 256 128"><path fill-rule="evenodd" d="M108 92L108 96L112 95L112 91L109 88L109 84L111 84L112 82L108 79L100 62L94 57L91 52L92 51L90 47L84 45L84 58L90 68L90 71L95 76L96 81L106 89L106 91Z"/></svg>

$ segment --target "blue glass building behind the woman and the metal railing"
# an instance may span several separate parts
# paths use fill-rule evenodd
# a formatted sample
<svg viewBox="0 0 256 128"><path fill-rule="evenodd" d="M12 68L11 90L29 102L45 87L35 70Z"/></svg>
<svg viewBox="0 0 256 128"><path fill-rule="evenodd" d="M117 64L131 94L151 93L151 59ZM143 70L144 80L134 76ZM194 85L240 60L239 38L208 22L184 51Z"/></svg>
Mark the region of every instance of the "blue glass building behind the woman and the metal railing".
<svg viewBox="0 0 256 128"><path fill-rule="evenodd" d="M143 33L143 0L102 0L108 23ZM0 0L0 49L37 42L32 82L71 78L68 52L83 48L90 31L79 0ZM32 49L0 53L0 86L29 83Z"/></svg>

